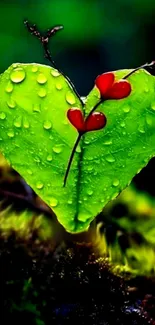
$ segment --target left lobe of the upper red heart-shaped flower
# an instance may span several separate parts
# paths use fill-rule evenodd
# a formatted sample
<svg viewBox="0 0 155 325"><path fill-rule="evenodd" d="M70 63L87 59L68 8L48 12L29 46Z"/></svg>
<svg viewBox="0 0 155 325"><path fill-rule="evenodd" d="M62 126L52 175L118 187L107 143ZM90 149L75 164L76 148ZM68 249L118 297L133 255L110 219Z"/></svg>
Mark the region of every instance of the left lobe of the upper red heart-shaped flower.
<svg viewBox="0 0 155 325"><path fill-rule="evenodd" d="M95 85L99 89L102 97L104 97L107 91L112 87L114 80L115 75L112 72L103 73L96 78Z"/></svg>

